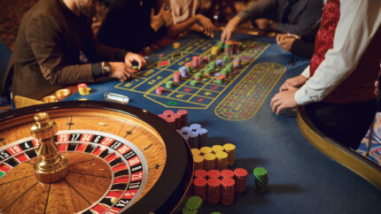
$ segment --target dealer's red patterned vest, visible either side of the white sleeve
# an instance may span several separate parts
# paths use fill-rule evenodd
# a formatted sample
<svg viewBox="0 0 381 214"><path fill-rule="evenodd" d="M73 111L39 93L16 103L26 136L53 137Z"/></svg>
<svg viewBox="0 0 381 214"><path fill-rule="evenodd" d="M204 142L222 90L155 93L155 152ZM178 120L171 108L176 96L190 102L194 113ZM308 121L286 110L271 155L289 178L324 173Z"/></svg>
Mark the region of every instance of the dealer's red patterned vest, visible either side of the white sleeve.
<svg viewBox="0 0 381 214"><path fill-rule="evenodd" d="M315 52L310 61L310 76L323 62L325 54L333 48L338 19L340 18L339 0L329 0L323 9L322 25L316 35ZM377 81L381 58L381 27L377 29L372 41L364 51L359 64L346 80L338 84L323 102L358 103L369 101L377 96Z"/></svg>

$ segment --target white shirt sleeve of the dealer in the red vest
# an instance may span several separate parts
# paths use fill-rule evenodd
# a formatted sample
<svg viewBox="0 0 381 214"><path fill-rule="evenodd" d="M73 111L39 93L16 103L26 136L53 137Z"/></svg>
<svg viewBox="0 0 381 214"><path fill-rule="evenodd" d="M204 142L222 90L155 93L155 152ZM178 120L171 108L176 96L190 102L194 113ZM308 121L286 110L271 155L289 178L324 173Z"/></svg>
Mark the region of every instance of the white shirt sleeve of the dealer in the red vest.
<svg viewBox="0 0 381 214"><path fill-rule="evenodd" d="M380 10L379 0L340 1L340 19L333 48L327 51L325 59L317 67L314 75L295 93L297 103L321 101L354 72L380 26ZM301 75L309 77L309 66Z"/></svg>

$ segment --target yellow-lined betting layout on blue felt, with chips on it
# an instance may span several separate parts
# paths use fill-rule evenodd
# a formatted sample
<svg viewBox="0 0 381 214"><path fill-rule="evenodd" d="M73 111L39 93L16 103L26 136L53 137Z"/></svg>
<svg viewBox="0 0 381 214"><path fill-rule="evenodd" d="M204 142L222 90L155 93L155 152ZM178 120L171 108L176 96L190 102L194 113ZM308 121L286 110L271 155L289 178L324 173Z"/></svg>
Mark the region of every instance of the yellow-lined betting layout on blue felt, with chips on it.
<svg viewBox="0 0 381 214"><path fill-rule="evenodd" d="M222 93L233 90L234 93L222 97L223 103L215 114L228 120L244 120L253 117L285 72L284 65L254 63L268 49L266 42L245 39L239 42L238 50L230 52L226 51L226 43L221 45L215 40L179 42L181 48L167 55L153 56L152 65L115 88L142 93L145 98L168 108L184 109L208 109ZM214 48L220 49L215 52ZM195 64L195 60L198 63ZM184 67L188 73L183 73ZM247 112L250 109L247 106L251 106L252 111Z"/></svg>

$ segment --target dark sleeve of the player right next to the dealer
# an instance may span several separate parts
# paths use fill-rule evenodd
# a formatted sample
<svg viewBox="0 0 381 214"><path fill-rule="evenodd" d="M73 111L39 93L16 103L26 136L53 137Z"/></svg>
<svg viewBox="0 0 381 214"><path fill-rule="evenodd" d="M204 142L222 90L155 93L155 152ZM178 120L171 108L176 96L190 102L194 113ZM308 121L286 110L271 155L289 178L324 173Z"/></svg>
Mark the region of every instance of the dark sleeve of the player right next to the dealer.
<svg viewBox="0 0 381 214"><path fill-rule="evenodd" d="M276 31L299 35L311 34L322 17L322 0L307 1L306 8L301 11L299 21L295 24L276 22Z"/></svg>

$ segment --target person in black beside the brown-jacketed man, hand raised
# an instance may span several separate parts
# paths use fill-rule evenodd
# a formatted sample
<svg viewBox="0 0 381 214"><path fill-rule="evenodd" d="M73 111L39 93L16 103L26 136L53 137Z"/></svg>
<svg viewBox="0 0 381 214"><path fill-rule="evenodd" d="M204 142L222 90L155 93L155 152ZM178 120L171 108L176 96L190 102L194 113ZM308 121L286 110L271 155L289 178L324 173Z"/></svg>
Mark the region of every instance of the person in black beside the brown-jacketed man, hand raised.
<svg viewBox="0 0 381 214"><path fill-rule="evenodd" d="M97 32L97 40L114 48L139 52L167 34L171 11L154 0L113 0Z"/></svg>

